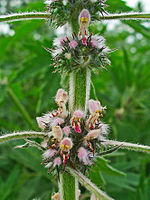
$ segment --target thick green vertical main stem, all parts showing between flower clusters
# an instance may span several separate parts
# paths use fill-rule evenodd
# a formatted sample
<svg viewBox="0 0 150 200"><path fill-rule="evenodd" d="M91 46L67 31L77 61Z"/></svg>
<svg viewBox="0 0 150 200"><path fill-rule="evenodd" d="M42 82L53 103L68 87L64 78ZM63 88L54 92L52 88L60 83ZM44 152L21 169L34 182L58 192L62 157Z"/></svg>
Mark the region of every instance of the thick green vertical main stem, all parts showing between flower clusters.
<svg viewBox="0 0 150 200"><path fill-rule="evenodd" d="M77 9L78 10L78 9ZM78 13L75 11L75 13ZM71 19L72 31L77 33L76 15ZM70 74L69 80L69 111L82 110L86 113L90 96L91 71L83 63L79 70ZM78 200L78 179L69 173L60 175L59 183L60 200Z"/></svg>

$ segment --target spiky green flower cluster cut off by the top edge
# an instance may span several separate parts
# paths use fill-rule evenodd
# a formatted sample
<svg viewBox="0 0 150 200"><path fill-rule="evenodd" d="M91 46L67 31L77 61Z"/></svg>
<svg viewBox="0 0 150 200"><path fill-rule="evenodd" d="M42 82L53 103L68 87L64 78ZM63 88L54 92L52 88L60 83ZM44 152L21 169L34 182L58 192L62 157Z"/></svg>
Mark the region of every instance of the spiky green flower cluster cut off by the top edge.
<svg viewBox="0 0 150 200"><path fill-rule="evenodd" d="M46 0L47 11L50 12L50 22L53 26L58 27L70 21L70 17L74 19L78 16L83 8L87 8L92 15L92 20L99 20L99 16L105 11L106 0Z"/></svg>

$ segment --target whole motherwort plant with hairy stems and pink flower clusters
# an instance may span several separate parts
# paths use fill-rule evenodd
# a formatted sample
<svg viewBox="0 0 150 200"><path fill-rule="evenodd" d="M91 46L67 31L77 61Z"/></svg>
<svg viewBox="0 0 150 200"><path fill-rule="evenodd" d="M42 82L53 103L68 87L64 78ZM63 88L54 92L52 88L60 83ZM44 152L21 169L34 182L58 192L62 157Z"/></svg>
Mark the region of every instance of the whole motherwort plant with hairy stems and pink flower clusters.
<svg viewBox="0 0 150 200"><path fill-rule="evenodd" d="M58 177L59 191L52 196L57 200L80 198L80 182L91 193L91 200L112 199L89 179L86 172L98 157L119 148L150 152L150 147L108 140L109 126L104 123L106 106L97 99L90 99L91 72L106 69L110 65L108 55L113 51L105 45L100 35L89 33L88 27L95 20L150 19L150 14L128 13L109 15L105 0L47 0L47 12L22 13L1 16L2 21L20 19L48 19L53 27L67 24L69 35L58 37L53 49L44 47L53 56L55 72L63 79L69 77L69 90L58 89L56 110L37 117L41 132L19 132L0 137L0 142L25 139L20 147L35 146L42 152L42 164L48 172ZM42 138L41 144L29 138Z"/></svg>

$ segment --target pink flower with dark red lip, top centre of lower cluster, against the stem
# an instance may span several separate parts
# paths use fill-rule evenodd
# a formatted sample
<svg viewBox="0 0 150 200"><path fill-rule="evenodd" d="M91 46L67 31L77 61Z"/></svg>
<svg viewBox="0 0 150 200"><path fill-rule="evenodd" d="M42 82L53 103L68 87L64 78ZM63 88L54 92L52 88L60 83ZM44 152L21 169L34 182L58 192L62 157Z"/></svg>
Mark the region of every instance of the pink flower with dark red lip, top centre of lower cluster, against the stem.
<svg viewBox="0 0 150 200"><path fill-rule="evenodd" d="M81 133L81 118L83 117L84 113L80 110L77 110L74 112L73 117L71 119L72 128L74 128L74 130L77 133Z"/></svg>

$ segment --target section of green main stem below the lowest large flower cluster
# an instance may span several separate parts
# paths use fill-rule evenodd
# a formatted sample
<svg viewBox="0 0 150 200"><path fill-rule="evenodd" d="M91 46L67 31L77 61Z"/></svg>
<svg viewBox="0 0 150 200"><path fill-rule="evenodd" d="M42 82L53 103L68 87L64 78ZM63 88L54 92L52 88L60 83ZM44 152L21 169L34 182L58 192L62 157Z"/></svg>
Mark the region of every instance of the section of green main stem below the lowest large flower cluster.
<svg viewBox="0 0 150 200"><path fill-rule="evenodd" d="M78 200L77 178L67 172L60 174L59 182L60 200Z"/></svg>

